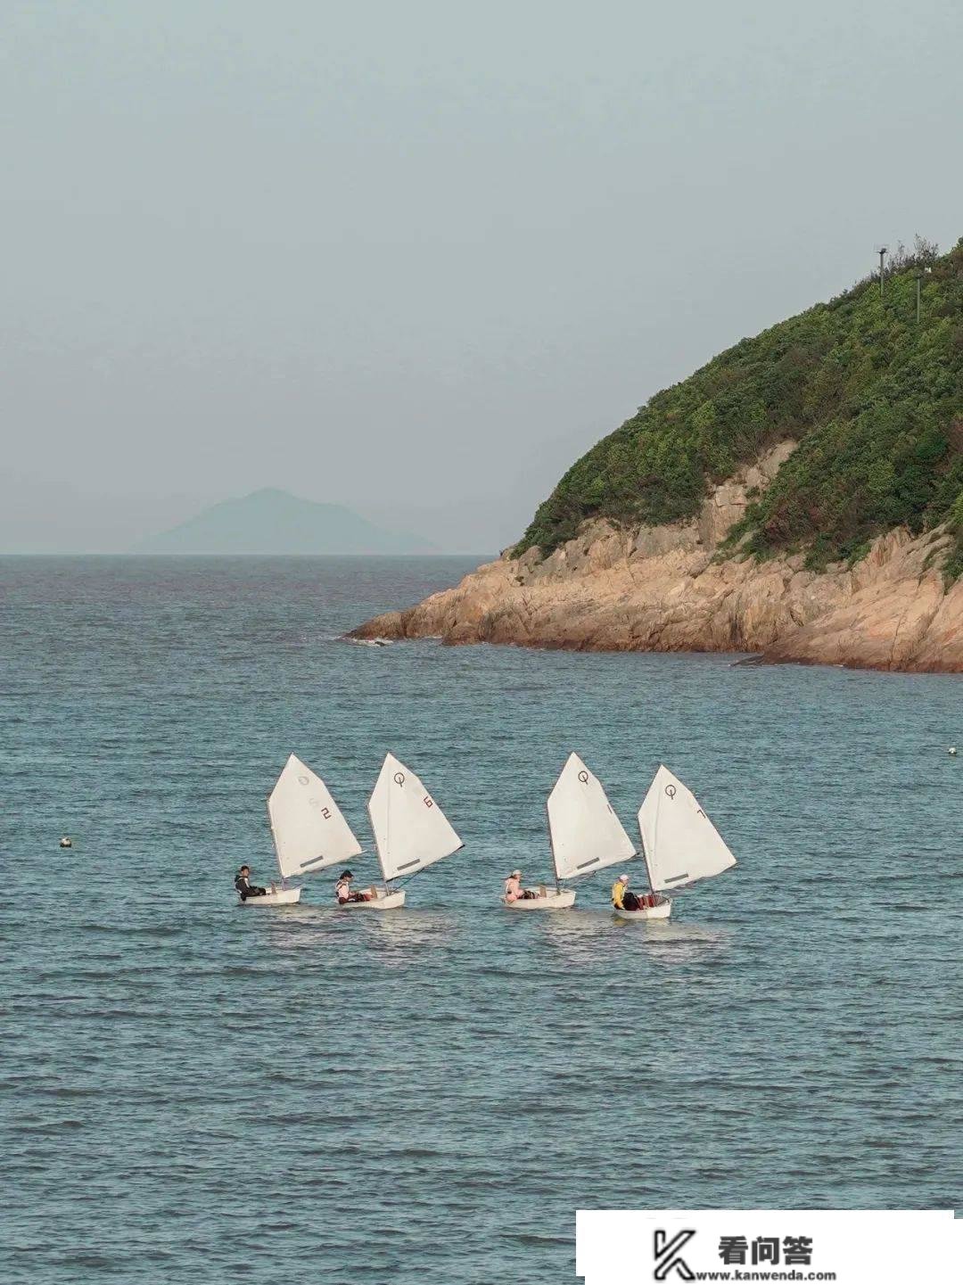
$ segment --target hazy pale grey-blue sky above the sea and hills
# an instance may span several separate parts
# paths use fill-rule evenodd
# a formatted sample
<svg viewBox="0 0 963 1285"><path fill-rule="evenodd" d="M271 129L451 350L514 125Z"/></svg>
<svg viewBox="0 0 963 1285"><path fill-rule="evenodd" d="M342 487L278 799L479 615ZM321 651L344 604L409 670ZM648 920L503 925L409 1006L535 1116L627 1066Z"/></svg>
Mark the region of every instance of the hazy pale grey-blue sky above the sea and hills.
<svg viewBox="0 0 963 1285"><path fill-rule="evenodd" d="M260 486L451 551L963 235L953 0L4 0L0 550Z"/></svg>

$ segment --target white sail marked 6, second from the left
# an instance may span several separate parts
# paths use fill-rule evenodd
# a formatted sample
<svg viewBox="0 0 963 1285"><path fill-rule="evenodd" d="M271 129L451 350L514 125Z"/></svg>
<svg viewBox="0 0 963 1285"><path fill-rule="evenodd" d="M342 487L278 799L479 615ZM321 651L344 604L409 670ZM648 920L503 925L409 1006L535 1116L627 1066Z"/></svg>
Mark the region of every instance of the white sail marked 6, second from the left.
<svg viewBox="0 0 963 1285"><path fill-rule="evenodd" d="M458 852L462 840L415 774L386 754L368 801L384 882Z"/></svg>

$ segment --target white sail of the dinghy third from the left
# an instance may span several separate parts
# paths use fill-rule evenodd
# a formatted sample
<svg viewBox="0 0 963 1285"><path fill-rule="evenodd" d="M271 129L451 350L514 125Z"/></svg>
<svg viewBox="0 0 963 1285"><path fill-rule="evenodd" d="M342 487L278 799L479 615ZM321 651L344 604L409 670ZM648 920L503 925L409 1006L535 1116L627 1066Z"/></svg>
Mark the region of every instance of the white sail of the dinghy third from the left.
<svg viewBox="0 0 963 1285"><path fill-rule="evenodd" d="M570 754L548 799L549 839L558 879L630 861L635 844L612 811L602 781Z"/></svg>

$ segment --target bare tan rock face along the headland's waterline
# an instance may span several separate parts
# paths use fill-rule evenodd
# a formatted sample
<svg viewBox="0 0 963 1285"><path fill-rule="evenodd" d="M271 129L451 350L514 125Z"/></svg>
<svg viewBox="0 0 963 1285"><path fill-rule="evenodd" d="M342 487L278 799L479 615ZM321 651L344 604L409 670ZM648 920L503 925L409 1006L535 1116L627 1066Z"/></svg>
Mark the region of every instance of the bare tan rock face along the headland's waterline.
<svg viewBox="0 0 963 1285"><path fill-rule="evenodd" d="M877 669L963 672L963 581L945 591L948 536L881 536L851 569L804 569L804 556L716 554L719 542L793 448L784 442L716 487L696 522L622 531L589 522L541 558L503 555L355 637L611 651L756 651Z"/></svg>

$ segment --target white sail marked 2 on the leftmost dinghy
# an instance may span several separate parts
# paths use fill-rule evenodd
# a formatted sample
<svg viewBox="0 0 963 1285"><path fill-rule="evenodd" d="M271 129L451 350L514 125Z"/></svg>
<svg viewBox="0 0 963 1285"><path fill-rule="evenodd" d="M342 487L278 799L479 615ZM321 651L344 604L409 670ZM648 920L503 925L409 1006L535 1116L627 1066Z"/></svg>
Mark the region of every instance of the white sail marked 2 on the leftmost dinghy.
<svg viewBox="0 0 963 1285"><path fill-rule="evenodd" d="M271 790L267 815L284 879L338 865L361 851L328 786L294 754Z"/></svg>

